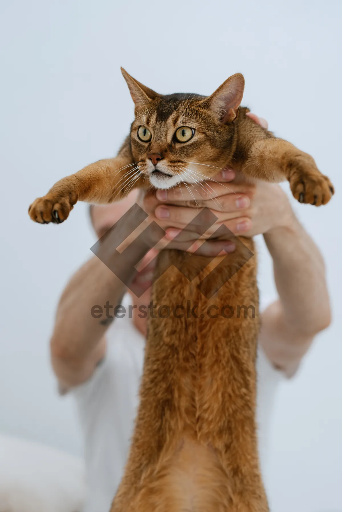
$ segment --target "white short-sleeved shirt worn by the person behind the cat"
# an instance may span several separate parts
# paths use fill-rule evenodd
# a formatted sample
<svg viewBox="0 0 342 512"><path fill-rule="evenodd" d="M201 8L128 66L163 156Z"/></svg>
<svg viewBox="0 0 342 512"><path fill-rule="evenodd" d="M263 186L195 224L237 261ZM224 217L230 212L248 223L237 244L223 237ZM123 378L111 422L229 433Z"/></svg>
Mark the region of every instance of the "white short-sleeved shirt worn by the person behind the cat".
<svg viewBox="0 0 342 512"><path fill-rule="evenodd" d="M133 433L143 366L144 337L126 315L116 318L106 339L106 357L92 377L73 390L84 434L87 497L84 512L108 512L120 483ZM277 383L282 379L259 347L257 359L259 452L265 465L268 429Z"/></svg>

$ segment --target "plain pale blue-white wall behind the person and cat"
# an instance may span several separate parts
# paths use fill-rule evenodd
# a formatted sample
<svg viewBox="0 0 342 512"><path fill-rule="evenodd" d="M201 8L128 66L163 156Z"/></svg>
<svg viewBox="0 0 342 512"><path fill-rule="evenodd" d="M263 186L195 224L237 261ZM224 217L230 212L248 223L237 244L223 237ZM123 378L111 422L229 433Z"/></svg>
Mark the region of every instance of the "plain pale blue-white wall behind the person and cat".
<svg viewBox="0 0 342 512"><path fill-rule="evenodd" d="M112 156L133 104L120 65L162 93L209 94L244 73L244 104L311 153L337 193L295 205L322 249L334 323L282 386L267 486L275 512L342 510L341 4L333 1L12 0L1 5L0 430L80 453L48 340L68 276L94 242L86 207L61 226L27 208L59 178ZM274 293L261 248L262 291Z"/></svg>

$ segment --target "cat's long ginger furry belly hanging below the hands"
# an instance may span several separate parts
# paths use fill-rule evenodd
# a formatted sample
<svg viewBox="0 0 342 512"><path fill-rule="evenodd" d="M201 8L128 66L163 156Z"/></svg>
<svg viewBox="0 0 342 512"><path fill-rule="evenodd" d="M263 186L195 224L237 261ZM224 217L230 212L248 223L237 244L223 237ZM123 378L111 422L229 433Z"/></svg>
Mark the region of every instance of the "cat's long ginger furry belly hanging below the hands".
<svg viewBox="0 0 342 512"><path fill-rule="evenodd" d="M259 322L237 314L237 305L258 308L255 261L244 264L243 250L231 257L241 270L231 277L224 267L225 285L210 300L196 288L202 274L185 277L179 251L161 253L154 305L185 314L149 318L136 428L112 512L268 511L254 419ZM187 264L191 274L201 261ZM187 314L189 297L197 317ZM233 315L208 314L225 305Z"/></svg>

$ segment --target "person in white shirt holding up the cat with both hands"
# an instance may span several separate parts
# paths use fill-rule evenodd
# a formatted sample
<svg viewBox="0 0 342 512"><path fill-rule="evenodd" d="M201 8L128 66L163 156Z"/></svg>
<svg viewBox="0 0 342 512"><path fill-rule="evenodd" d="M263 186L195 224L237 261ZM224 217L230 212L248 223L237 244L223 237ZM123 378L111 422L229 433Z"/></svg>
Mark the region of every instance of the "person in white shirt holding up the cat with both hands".
<svg viewBox="0 0 342 512"><path fill-rule="evenodd" d="M248 115L265 126L264 120ZM183 243L194 240L188 250L203 250L205 255L220 250L232 252L234 244L211 240L201 249L198 235L183 229L196 216L198 206L215 211L218 223L224 223L235 234L263 234L279 293L278 300L261 308L257 419L263 467L277 383L283 375L291 377L295 373L315 335L330 323L325 267L322 255L295 218L279 185L248 184L239 180L233 169L225 169L208 186L210 195L201 189L191 189L190 193L183 186L158 190L156 194L134 190L118 203L92 206L91 219L100 238L138 202L165 230L166 241L182 231L175 248L184 249ZM212 226L215 229L217 225ZM141 262L143 270L136 278L136 289L152 284L151 260L157 251L151 249ZM138 403L147 327L146 315L139 313L139 307L148 307L150 291L140 297L130 295L94 257L75 273L59 302L51 339L52 364L61 391L70 390L75 397L84 429L86 512L108 511L121 479ZM265 306L263 301L261 289L261 304ZM113 314L112 308L118 304L125 306L125 315ZM95 305L107 307L107 314L94 318L91 309Z"/></svg>

